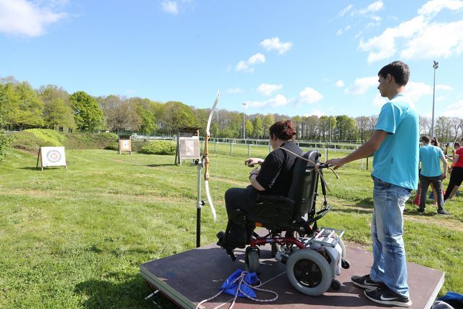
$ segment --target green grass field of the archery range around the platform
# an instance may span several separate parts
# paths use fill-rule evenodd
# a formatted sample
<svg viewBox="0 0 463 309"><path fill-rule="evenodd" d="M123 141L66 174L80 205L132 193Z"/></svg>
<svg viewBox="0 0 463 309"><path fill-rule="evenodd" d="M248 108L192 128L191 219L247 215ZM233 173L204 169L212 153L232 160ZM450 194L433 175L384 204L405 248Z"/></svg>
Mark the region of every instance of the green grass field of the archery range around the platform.
<svg viewBox="0 0 463 309"><path fill-rule="evenodd" d="M245 187L250 171L243 145L234 145L233 155L228 145L211 152L218 221L203 208L203 245L225 228L223 194ZM252 148L253 157L267 153ZM152 308L138 267L195 247L197 168L187 161L174 166L173 156L111 150L67 150L66 156L67 170L38 171L37 158L19 150L0 163L0 307ZM346 230L348 244L369 250L370 172L359 162L338 172L340 180L326 175L334 209L320 224ZM463 292L462 204L461 196L446 203L452 216L438 216L432 204L425 215L411 203L405 212L407 258L446 272L441 294Z"/></svg>

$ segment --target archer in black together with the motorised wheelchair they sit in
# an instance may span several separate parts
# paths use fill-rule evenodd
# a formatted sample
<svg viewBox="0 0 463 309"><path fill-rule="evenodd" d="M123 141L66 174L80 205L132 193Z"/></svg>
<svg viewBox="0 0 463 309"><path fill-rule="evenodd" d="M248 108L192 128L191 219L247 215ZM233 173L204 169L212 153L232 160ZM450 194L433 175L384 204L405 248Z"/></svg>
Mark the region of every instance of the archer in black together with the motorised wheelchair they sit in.
<svg viewBox="0 0 463 309"><path fill-rule="evenodd" d="M272 255L286 264L286 274L296 290L311 296L323 294L330 287L338 290L335 279L341 267L348 269L342 230L318 229L317 221L332 207L327 205L321 154L302 152L295 143L291 121L276 122L269 129L273 151L266 159L250 158L254 167L250 186L232 188L225 193L228 223L218 232L218 245L236 260L235 248L246 248L247 271L259 269L259 246L270 243ZM321 180L321 181L319 181ZM316 211L318 184L323 193L323 208ZM261 237L256 226L266 228ZM284 233L284 235L283 235Z"/></svg>

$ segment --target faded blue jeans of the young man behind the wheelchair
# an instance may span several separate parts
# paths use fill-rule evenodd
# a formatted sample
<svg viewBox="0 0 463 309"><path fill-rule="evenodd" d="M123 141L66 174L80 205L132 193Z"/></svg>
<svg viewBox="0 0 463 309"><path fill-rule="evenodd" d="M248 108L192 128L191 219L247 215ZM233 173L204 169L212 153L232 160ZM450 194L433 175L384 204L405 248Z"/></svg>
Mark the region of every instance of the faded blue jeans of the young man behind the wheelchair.
<svg viewBox="0 0 463 309"><path fill-rule="evenodd" d="M407 260L403 243L403 209L411 190L383 182L372 176L373 266L370 278L382 282L393 292L409 297Z"/></svg>

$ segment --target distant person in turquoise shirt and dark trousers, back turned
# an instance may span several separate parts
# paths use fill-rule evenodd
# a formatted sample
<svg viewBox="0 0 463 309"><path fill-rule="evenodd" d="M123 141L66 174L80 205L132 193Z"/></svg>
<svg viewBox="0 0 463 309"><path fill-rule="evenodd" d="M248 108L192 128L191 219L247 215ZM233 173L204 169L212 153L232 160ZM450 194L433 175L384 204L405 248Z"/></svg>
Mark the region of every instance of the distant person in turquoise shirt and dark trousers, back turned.
<svg viewBox="0 0 463 309"><path fill-rule="evenodd" d="M420 207L418 212L425 211L426 196L428 194L429 184L432 184L432 187L436 190L437 194L437 213L438 214L449 214L444 209L444 190L442 186L442 180L447 178L447 161L444 157L444 152L441 148L431 145L431 138L429 136L421 137L423 142L423 147L420 148L420 161L421 161L421 171L420 171L420 187L421 187L421 197L420 197ZM439 164L439 159L442 161L444 166L444 171L441 172L441 166Z"/></svg>

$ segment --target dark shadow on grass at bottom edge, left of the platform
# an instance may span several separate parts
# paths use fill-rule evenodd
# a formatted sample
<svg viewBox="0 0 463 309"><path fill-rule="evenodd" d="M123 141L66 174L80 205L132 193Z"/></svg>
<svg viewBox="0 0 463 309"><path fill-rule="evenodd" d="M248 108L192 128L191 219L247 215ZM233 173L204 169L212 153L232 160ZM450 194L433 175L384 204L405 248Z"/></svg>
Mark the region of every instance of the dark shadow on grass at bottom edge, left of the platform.
<svg viewBox="0 0 463 309"><path fill-rule="evenodd" d="M126 274L108 274L108 280L87 280L76 285L74 292L86 299L85 308L153 308L152 299L145 300L152 289L142 276L126 277ZM111 282L119 278L122 282ZM164 296L154 299L161 308L177 308Z"/></svg>

